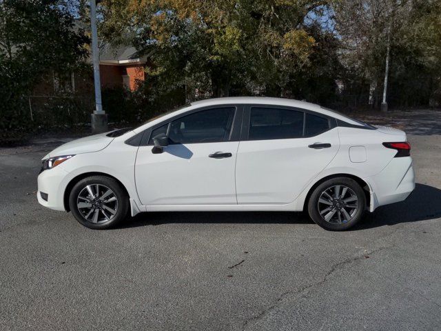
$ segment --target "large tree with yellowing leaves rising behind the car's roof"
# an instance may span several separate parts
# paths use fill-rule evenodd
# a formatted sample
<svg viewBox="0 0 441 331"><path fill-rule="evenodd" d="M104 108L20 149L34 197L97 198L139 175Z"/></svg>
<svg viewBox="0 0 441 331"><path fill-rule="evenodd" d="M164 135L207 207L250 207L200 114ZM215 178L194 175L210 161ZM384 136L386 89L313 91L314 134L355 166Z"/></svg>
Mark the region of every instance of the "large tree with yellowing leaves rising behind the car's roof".
<svg viewBox="0 0 441 331"><path fill-rule="evenodd" d="M148 54L147 81L201 96L287 95L316 41L305 17L327 1L103 0L102 36Z"/></svg>

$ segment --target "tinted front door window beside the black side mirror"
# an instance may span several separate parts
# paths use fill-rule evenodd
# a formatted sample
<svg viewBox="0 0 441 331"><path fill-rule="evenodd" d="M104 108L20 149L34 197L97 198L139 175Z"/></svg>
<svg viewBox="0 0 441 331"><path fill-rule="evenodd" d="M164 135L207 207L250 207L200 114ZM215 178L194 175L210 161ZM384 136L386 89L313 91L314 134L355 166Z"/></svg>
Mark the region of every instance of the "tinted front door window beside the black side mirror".
<svg viewBox="0 0 441 331"><path fill-rule="evenodd" d="M234 107L212 108L176 119L153 130L149 145L153 144L153 137L161 133L168 135L170 144L228 141L235 110Z"/></svg>

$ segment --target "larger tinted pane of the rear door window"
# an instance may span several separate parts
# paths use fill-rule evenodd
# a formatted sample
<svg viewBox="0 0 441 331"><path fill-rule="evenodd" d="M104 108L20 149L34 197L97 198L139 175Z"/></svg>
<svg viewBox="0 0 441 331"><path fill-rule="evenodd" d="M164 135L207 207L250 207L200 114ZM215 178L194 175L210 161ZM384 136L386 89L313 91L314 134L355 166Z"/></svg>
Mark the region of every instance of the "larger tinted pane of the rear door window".
<svg viewBox="0 0 441 331"><path fill-rule="evenodd" d="M291 139L303 136L303 112L283 108L251 108L249 140Z"/></svg>

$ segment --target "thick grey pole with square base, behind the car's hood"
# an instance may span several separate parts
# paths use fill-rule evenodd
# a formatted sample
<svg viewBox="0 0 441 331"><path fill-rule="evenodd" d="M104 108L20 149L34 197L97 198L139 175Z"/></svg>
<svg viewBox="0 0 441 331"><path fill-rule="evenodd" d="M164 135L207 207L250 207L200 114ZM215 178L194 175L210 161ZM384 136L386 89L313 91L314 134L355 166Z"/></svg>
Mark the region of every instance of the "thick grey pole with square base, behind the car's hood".
<svg viewBox="0 0 441 331"><path fill-rule="evenodd" d="M95 86L95 110L91 114L92 132L99 133L107 131L107 114L103 110L101 102L101 81L99 77L99 49L98 32L96 30L96 3L100 0L90 0L90 26L92 30L92 59L94 65L94 86Z"/></svg>

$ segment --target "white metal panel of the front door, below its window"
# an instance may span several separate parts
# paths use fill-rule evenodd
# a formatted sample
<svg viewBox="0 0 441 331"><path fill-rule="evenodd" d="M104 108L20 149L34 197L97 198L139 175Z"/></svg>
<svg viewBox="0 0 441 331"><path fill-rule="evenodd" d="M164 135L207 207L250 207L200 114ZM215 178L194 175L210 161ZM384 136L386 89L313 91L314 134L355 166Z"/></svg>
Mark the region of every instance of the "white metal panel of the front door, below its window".
<svg viewBox="0 0 441 331"><path fill-rule="evenodd" d="M170 145L162 154L141 146L136 157L135 178L145 205L236 204L234 168L238 141ZM214 152L232 157L212 159Z"/></svg>

